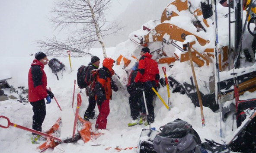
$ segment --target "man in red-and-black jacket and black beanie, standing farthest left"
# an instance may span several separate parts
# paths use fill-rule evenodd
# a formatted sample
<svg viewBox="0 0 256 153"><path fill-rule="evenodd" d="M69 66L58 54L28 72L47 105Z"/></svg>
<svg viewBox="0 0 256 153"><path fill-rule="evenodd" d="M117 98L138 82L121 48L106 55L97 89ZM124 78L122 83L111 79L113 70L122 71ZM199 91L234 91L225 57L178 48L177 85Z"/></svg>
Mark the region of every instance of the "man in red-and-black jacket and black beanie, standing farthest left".
<svg viewBox="0 0 256 153"><path fill-rule="evenodd" d="M35 59L29 69L29 102L32 105L33 124L32 128L36 131L42 131L42 123L45 120L45 98L47 104L51 102L54 97L53 93L49 91L47 86L47 77L44 71L44 67L48 62L48 58L45 53L35 53ZM42 139L40 135L32 133L32 143L38 143L37 140Z"/></svg>

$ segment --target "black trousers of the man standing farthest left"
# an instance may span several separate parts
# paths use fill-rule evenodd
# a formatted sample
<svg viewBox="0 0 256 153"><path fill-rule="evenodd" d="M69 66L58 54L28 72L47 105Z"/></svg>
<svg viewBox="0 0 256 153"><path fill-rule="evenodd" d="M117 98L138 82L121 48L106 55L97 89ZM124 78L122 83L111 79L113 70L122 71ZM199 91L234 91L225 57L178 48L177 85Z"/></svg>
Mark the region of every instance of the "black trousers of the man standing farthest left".
<svg viewBox="0 0 256 153"><path fill-rule="evenodd" d="M34 112L32 129L36 131L42 131L42 124L45 120L46 108L45 99L38 100L36 102L30 102ZM35 134L35 133L32 133Z"/></svg>

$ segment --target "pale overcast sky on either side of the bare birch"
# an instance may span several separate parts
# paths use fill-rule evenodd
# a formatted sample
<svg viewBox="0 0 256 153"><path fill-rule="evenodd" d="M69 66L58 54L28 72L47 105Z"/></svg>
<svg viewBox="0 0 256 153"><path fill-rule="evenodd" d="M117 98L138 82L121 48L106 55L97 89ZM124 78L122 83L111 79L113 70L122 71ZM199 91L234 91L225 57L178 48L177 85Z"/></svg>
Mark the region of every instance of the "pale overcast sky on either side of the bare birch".
<svg viewBox="0 0 256 153"><path fill-rule="evenodd" d="M112 0L106 16L121 22L125 29L117 35L105 38L107 47L115 47L128 39L128 34L140 29L150 19L160 19L170 0ZM155 6L158 7L155 7ZM54 0L0 0L0 54L3 56L27 56L39 51L35 41L64 36L51 25L51 9ZM130 24L133 21L133 24ZM135 21L135 22L134 22ZM96 46L99 47L99 46Z"/></svg>

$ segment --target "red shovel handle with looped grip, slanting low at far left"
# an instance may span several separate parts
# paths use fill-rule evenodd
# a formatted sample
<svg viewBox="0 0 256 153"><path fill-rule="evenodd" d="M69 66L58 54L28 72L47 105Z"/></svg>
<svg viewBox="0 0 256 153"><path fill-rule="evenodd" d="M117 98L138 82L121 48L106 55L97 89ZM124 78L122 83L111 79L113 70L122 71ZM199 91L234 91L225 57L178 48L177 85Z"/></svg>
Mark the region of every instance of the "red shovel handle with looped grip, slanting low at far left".
<svg viewBox="0 0 256 153"><path fill-rule="evenodd" d="M10 126L12 126L12 127L14 127L14 128L20 128L20 129L22 129L22 130L26 130L26 131L29 131L29 132L33 132L33 133L35 133L35 134L39 134L39 135L42 135L42 136L45 136L45 137L48 137L48 138L51 138L51 139L54 139L54 140L57 140L57 141L62 142L62 140L59 139L58 137L54 137L54 136L51 136L51 135L49 135L49 134L46 134L46 133L43 133L43 132L40 132L40 131L36 131L36 130L34 130L34 129L31 129L31 128L26 128L26 127L23 127L23 126L21 126L21 125L14 124L14 123L10 122L10 119L7 118L6 116L1 115L1 116L0 116L0 119L1 119L1 118L4 118L4 119L7 120L7 126L3 126L3 125L0 124L0 127L1 127L1 128L9 128Z"/></svg>

